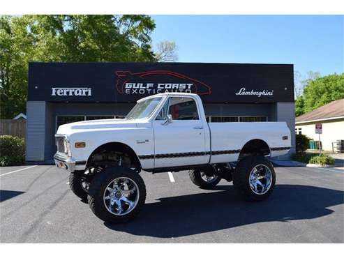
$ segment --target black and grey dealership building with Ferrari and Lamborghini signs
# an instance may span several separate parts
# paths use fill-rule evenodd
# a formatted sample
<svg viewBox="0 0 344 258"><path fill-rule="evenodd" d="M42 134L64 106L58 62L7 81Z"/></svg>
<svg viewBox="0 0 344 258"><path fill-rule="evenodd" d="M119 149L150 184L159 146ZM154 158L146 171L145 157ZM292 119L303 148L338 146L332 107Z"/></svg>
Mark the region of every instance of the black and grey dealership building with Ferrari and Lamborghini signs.
<svg viewBox="0 0 344 258"><path fill-rule="evenodd" d="M121 119L136 100L166 91L197 93L211 122L285 121L292 153L293 81L290 64L29 63L26 160L52 160L63 123Z"/></svg>

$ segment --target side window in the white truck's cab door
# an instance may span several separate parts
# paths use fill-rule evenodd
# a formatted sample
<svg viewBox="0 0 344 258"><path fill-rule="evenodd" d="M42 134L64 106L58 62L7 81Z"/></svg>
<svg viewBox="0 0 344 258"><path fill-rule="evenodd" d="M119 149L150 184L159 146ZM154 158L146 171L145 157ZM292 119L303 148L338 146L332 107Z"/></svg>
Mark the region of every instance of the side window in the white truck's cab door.
<svg viewBox="0 0 344 258"><path fill-rule="evenodd" d="M173 120L198 120L197 105L192 98L170 98L169 114Z"/></svg>

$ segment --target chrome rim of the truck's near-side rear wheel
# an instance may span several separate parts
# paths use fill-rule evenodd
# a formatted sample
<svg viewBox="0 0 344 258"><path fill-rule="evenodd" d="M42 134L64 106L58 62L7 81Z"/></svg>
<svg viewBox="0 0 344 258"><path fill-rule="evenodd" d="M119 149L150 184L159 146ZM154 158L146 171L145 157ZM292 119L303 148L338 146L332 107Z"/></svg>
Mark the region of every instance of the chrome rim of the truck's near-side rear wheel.
<svg viewBox="0 0 344 258"><path fill-rule="evenodd" d="M256 195L264 195L271 188L272 173L266 165L256 165L249 176L250 189Z"/></svg>

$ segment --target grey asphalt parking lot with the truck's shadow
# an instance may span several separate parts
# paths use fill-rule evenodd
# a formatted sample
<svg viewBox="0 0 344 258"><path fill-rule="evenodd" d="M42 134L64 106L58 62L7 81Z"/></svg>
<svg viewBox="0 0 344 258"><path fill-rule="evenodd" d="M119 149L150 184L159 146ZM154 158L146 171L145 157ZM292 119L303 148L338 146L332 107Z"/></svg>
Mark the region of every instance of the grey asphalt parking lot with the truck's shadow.
<svg viewBox="0 0 344 258"><path fill-rule="evenodd" d="M0 174L1 243L344 242L343 169L278 167L273 194L258 203L244 202L226 181L202 190L186 172L142 172L146 204L122 225L98 220L62 169L3 167Z"/></svg>

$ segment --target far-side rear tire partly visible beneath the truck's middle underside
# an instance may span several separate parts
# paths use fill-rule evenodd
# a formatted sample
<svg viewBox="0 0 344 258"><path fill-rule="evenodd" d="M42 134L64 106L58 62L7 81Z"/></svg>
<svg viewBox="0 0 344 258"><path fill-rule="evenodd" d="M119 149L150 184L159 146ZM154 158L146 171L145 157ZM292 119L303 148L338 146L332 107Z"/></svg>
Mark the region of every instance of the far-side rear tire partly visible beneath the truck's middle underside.
<svg viewBox="0 0 344 258"><path fill-rule="evenodd" d="M214 188L221 180L221 177L214 174L211 169L189 170L188 176L195 185L203 189Z"/></svg>

